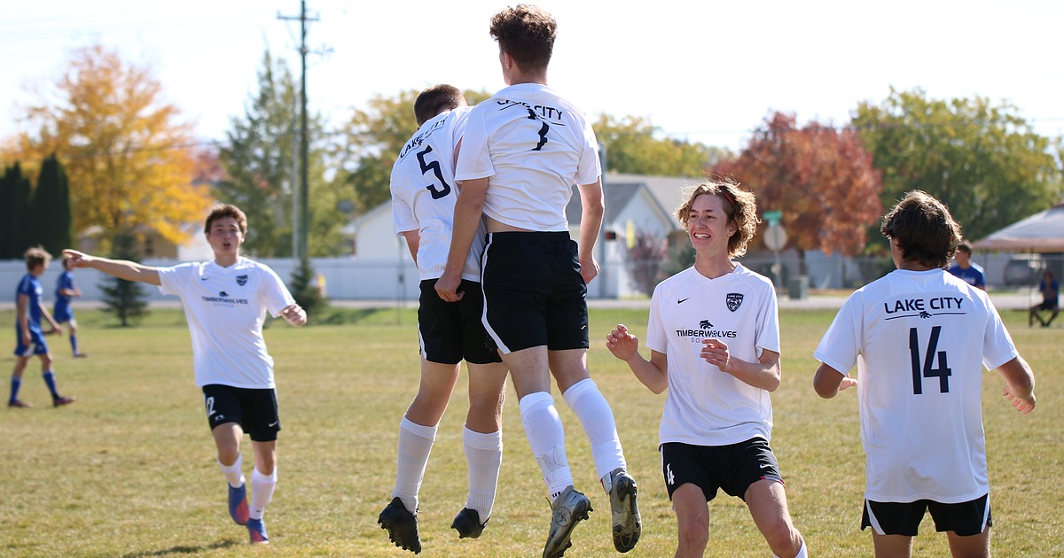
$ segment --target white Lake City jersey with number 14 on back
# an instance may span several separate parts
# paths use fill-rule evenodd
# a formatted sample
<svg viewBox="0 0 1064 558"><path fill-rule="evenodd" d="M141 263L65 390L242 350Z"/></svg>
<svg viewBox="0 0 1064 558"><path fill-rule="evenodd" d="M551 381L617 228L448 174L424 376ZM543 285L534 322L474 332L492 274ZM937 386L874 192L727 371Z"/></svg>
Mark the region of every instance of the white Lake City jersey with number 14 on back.
<svg viewBox="0 0 1064 558"><path fill-rule="evenodd" d="M857 362L865 498L986 494L982 369L1017 354L986 293L943 270L896 270L850 295L813 356L843 373Z"/></svg>

